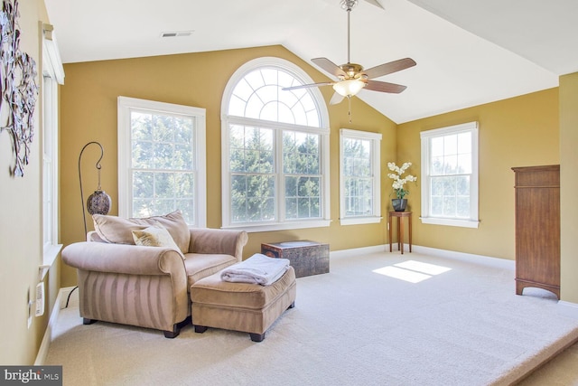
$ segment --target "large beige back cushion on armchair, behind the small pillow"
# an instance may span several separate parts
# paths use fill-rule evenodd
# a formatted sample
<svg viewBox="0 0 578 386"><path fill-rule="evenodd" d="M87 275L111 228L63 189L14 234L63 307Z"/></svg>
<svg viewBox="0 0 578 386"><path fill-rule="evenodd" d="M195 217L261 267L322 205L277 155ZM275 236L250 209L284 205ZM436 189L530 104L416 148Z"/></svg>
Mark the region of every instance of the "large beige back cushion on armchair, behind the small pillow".
<svg viewBox="0 0 578 386"><path fill-rule="evenodd" d="M102 240L114 244L133 245L135 244L133 231L143 231L158 221L171 234L172 240L174 240L182 253L189 251L191 231L189 231L189 226L184 221L181 211L142 219L125 219L118 216L93 214L92 220L94 221L94 229Z"/></svg>

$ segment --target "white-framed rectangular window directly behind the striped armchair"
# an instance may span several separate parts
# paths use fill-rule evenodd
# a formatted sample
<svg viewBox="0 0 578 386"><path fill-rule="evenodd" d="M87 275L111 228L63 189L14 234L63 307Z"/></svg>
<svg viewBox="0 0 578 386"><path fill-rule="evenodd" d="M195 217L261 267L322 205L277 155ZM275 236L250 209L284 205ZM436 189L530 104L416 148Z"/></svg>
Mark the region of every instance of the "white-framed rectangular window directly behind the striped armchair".
<svg viewBox="0 0 578 386"><path fill-rule="evenodd" d="M118 97L118 213L205 227L205 109Z"/></svg>

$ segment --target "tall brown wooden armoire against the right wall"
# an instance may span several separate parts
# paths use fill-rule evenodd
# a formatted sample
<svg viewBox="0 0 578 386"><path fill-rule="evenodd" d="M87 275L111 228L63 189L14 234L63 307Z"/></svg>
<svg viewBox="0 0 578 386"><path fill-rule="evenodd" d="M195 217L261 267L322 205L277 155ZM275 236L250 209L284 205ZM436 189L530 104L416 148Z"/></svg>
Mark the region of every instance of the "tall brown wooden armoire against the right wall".
<svg viewBox="0 0 578 386"><path fill-rule="evenodd" d="M512 167L516 175L516 294L560 298L560 165Z"/></svg>

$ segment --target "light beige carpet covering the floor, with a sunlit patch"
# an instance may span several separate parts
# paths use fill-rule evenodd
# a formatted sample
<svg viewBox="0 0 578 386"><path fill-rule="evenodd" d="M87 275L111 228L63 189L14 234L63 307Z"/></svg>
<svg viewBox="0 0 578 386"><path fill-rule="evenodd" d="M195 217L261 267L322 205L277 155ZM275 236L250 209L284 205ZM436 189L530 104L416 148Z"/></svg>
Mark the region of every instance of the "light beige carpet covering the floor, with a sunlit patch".
<svg viewBox="0 0 578 386"><path fill-rule="evenodd" d="M331 273L297 279L295 308L259 344L82 325L71 302L46 364L64 385L506 385L578 339L578 320L547 291L516 296L513 264L488 261L332 257Z"/></svg>

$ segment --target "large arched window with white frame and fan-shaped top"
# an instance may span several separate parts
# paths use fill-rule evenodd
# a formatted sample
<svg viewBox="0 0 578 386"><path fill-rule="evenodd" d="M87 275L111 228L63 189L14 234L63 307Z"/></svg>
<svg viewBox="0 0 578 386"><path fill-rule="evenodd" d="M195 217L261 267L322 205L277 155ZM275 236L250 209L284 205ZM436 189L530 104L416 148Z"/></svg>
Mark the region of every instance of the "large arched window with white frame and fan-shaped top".
<svg viewBox="0 0 578 386"><path fill-rule="evenodd" d="M228 81L221 107L223 227L328 226L329 118L317 88L289 61L259 58Z"/></svg>

